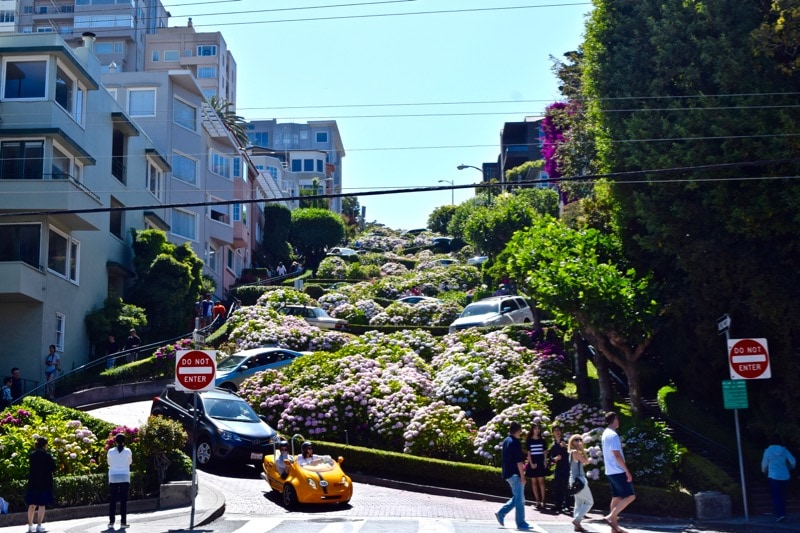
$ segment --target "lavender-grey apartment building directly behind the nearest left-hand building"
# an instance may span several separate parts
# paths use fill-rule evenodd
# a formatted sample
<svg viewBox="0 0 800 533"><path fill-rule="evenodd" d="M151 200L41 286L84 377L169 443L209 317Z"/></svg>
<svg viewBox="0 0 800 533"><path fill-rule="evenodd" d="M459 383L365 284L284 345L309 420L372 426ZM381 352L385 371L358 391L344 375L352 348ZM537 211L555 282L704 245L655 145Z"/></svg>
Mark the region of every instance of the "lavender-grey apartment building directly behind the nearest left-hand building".
<svg viewBox="0 0 800 533"><path fill-rule="evenodd" d="M216 283L215 296L224 298L249 257L243 229L236 238L245 211L235 200L243 199L239 182L250 167L235 140L190 70L108 72L101 79L170 162L157 193L177 204L164 214L169 240L191 245Z"/></svg>

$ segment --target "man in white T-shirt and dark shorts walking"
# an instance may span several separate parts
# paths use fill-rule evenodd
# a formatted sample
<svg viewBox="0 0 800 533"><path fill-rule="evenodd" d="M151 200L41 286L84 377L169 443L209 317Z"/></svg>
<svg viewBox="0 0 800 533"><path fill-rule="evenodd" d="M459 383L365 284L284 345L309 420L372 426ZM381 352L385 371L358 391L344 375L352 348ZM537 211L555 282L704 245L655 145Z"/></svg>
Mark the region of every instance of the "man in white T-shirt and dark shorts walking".
<svg viewBox="0 0 800 533"><path fill-rule="evenodd" d="M617 525L619 514L636 499L636 495L633 492L633 475L625 464L622 442L617 433L619 417L617 413L609 411L605 420L606 429L603 430L601 442L606 477L611 486L611 509L603 519L611 526L612 533L620 533L622 530Z"/></svg>

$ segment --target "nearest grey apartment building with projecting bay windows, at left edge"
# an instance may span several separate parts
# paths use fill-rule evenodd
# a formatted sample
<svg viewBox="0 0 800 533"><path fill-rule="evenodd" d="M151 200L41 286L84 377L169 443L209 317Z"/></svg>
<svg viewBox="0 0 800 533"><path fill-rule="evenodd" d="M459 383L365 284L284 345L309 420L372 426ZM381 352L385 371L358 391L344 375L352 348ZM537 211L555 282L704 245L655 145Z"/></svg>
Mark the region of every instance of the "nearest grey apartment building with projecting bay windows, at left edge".
<svg viewBox="0 0 800 533"><path fill-rule="evenodd" d="M84 317L133 276L131 229L161 224L166 156L100 83L93 38L0 35L0 365L42 381L90 356ZM161 210L163 211L163 209Z"/></svg>

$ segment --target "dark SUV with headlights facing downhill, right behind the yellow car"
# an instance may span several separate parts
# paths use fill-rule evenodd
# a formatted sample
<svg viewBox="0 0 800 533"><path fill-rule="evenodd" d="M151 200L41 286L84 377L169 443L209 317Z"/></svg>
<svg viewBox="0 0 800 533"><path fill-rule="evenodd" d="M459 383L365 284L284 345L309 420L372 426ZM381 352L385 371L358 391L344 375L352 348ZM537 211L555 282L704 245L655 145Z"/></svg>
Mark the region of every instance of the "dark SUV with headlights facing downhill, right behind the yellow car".
<svg viewBox="0 0 800 533"><path fill-rule="evenodd" d="M197 464L216 461L261 463L274 450L277 432L246 401L226 389L197 393L197 432L193 432L194 394L167 385L153 398L151 415L181 423L197 446Z"/></svg>

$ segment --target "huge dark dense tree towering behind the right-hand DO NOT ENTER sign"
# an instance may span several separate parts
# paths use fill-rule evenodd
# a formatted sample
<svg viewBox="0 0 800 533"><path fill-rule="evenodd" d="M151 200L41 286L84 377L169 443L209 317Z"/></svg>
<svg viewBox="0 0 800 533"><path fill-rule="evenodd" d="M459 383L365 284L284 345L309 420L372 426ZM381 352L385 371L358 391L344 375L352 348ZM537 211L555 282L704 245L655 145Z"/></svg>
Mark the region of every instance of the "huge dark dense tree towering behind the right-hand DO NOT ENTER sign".
<svg viewBox="0 0 800 533"><path fill-rule="evenodd" d="M757 418L776 418L757 406L777 398L797 427L800 325L787 317L800 313L800 183L785 176L800 170L800 111L788 59L758 40L774 5L595 0L582 87L625 252L664 283L681 332L662 346L681 357L669 361L676 379L719 403L708 379L724 378L727 360L714 324L731 312L736 334L769 337L786 370L753 388Z"/></svg>

